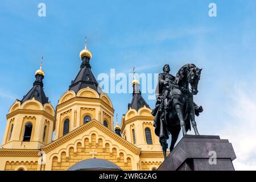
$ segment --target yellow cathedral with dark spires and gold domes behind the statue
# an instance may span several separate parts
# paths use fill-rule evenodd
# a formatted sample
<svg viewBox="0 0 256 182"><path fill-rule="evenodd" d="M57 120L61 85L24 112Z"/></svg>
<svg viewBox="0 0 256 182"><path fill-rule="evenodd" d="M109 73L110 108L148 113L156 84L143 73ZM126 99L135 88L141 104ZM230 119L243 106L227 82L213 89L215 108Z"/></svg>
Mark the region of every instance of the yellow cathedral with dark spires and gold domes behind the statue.
<svg viewBox="0 0 256 182"><path fill-rule="evenodd" d="M139 81L134 77L131 103L119 126L112 101L93 76L86 46L80 58L80 70L55 108L44 93L42 64L32 88L11 105L1 171L156 170L163 162Z"/></svg>

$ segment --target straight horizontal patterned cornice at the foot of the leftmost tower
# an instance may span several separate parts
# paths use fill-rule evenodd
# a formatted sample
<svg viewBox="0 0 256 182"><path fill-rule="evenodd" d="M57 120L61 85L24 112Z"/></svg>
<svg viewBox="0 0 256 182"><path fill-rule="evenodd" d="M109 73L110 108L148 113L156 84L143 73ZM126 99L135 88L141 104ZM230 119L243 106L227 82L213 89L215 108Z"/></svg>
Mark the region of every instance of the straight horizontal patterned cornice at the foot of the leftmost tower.
<svg viewBox="0 0 256 182"><path fill-rule="evenodd" d="M39 150L13 150L13 149L0 149L0 156L12 157L39 157Z"/></svg>

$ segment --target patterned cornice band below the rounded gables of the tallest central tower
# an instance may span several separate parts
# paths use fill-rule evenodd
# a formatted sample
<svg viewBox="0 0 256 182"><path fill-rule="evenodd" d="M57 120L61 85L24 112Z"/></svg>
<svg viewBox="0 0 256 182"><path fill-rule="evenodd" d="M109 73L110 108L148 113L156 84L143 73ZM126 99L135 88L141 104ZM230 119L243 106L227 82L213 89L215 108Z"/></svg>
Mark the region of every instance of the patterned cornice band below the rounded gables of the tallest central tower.
<svg viewBox="0 0 256 182"><path fill-rule="evenodd" d="M106 104L105 101L101 100L101 98L90 98L90 97L73 97L70 100L62 102L61 104L57 105L56 109L59 109L59 107L63 107L65 105L71 104L74 101L85 101L85 100L89 102L98 102L104 105L105 107L107 107L110 111L114 112L114 109L110 105Z"/></svg>

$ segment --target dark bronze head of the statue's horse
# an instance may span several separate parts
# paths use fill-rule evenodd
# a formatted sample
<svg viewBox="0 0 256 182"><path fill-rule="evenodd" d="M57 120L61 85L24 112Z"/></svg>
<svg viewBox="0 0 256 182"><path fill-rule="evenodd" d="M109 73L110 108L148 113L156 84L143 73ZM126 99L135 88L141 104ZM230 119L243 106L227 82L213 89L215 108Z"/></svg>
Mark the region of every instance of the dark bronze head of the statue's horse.
<svg viewBox="0 0 256 182"><path fill-rule="evenodd" d="M197 85L200 80L200 75L201 75L202 69L200 68L192 68L190 72L188 73L188 82L191 85L192 93L193 95L196 95L198 93Z"/></svg>

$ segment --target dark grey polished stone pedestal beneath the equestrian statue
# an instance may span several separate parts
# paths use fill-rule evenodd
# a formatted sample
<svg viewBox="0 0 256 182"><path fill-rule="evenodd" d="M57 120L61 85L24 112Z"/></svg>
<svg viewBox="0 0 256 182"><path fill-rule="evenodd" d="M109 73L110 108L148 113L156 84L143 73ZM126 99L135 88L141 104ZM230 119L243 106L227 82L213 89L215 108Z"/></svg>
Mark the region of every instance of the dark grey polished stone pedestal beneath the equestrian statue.
<svg viewBox="0 0 256 182"><path fill-rule="evenodd" d="M236 154L227 139L184 135L158 171L234 171Z"/></svg>

